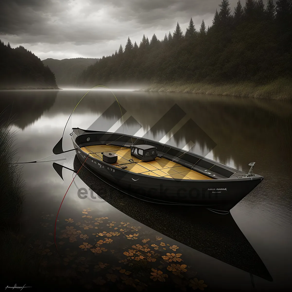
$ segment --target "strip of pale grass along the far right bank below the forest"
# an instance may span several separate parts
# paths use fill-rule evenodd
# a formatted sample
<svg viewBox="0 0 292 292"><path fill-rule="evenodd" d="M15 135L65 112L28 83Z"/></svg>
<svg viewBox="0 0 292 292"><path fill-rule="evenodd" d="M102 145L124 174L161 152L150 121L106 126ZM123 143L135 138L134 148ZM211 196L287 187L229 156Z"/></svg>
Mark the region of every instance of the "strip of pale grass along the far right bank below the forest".
<svg viewBox="0 0 292 292"><path fill-rule="evenodd" d="M171 84L153 84L145 91L163 91L177 93L205 93L212 95L229 95L250 98L277 100L292 99L292 79L277 79L268 84L258 85L242 82L234 84L211 84L175 82Z"/></svg>

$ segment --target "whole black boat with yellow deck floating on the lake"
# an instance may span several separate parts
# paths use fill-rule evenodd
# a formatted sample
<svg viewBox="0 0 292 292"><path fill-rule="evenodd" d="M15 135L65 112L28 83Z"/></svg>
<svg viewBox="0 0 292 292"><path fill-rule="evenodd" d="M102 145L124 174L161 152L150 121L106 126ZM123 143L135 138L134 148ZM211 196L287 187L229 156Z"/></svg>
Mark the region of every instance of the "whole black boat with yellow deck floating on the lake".
<svg viewBox="0 0 292 292"><path fill-rule="evenodd" d="M229 212L263 176L236 170L152 140L73 128L77 157L122 191L154 203L205 206Z"/></svg>

